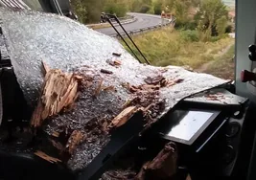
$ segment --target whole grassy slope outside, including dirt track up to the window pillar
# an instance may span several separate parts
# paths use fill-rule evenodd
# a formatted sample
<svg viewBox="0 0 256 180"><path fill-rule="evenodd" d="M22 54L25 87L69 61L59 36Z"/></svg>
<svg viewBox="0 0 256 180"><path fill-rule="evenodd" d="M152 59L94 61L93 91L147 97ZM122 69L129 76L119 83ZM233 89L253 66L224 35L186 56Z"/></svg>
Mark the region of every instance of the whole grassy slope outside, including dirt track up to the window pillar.
<svg viewBox="0 0 256 180"><path fill-rule="evenodd" d="M190 66L201 73L212 74L222 79L234 79L232 58L235 54L235 40L228 36L221 39L215 37L211 42L202 42L199 41L196 31L184 32L165 28L136 35L132 39L152 65ZM128 50L125 43L123 45ZM134 48L132 50L139 55Z"/></svg>

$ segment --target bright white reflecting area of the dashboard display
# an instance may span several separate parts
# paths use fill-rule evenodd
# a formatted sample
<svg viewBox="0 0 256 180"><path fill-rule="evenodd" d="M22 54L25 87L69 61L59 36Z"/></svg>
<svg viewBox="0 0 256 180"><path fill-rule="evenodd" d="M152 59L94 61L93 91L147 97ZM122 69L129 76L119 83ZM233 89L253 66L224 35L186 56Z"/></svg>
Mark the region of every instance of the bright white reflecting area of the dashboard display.
<svg viewBox="0 0 256 180"><path fill-rule="evenodd" d="M178 124L175 124L168 136L190 141L191 138L198 132L200 127L211 118L214 113L203 111L188 111Z"/></svg>

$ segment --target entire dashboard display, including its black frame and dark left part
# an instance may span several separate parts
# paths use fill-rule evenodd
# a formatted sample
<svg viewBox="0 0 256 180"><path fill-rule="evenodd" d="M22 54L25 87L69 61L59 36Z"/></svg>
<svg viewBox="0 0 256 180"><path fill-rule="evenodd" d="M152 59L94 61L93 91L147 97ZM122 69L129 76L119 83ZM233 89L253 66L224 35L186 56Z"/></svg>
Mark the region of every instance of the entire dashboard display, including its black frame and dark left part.
<svg viewBox="0 0 256 180"><path fill-rule="evenodd" d="M192 145L220 113L218 110L176 109L165 117L156 131L167 140Z"/></svg>

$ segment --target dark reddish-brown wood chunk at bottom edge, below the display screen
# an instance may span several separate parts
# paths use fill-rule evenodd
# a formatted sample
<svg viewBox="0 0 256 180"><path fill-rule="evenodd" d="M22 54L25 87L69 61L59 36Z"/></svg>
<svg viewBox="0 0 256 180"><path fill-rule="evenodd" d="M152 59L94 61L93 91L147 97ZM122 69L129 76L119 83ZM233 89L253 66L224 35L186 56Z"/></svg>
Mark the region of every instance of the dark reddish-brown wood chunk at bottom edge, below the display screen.
<svg viewBox="0 0 256 180"><path fill-rule="evenodd" d="M136 180L170 179L177 169L177 151L174 143L167 144L156 157L147 162L135 177Z"/></svg>

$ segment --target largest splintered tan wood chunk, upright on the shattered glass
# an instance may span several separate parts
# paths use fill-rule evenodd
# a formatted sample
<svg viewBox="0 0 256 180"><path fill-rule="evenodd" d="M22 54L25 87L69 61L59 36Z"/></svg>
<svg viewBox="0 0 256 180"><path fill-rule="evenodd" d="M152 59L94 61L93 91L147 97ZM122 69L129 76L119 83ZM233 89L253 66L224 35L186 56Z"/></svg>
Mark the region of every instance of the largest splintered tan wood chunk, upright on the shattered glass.
<svg viewBox="0 0 256 180"><path fill-rule="evenodd" d="M44 64L45 75L40 99L31 119L32 127L39 127L47 118L69 109L79 96L81 77L72 73L63 73Z"/></svg>

